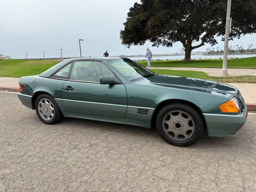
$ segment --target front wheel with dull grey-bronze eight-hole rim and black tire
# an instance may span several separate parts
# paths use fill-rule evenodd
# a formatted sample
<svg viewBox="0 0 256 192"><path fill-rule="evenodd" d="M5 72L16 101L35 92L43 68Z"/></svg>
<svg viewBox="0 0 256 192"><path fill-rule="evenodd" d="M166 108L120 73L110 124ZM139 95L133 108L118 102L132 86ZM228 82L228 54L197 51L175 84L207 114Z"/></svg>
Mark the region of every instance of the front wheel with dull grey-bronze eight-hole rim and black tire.
<svg viewBox="0 0 256 192"><path fill-rule="evenodd" d="M175 102L159 110L156 116L156 130L166 142L186 147L202 136L204 120L195 107Z"/></svg>

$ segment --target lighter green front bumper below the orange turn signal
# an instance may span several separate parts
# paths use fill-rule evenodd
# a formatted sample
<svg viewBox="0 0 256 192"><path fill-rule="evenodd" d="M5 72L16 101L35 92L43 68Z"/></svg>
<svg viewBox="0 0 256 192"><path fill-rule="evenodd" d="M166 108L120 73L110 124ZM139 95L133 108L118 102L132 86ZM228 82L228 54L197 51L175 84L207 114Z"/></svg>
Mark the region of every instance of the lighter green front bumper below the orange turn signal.
<svg viewBox="0 0 256 192"><path fill-rule="evenodd" d="M243 127L248 110L245 105L244 111L241 114L212 114L203 113L206 121L208 136L210 137L234 137Z"/></svg>

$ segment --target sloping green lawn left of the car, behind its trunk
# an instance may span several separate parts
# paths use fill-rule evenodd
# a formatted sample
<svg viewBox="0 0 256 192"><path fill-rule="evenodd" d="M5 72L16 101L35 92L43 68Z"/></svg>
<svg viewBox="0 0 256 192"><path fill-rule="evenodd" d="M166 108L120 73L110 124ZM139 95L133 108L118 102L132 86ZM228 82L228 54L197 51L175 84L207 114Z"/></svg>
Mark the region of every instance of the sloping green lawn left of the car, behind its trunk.
<svg viewBox="0 0 256 192"><path fill-rule="evenodd" d="M59 62L58 60L0 60L0 77L38 75Z"/></svg>

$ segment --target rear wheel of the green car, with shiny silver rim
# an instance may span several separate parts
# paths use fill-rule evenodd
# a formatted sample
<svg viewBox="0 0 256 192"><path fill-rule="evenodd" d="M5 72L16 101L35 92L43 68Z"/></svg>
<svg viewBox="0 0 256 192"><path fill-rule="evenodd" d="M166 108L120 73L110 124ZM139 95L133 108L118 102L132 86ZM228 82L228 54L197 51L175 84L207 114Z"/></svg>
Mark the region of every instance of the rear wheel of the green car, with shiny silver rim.
<svg viewBox="0 0 256 192"><path fill-rule="evenodd" d="M51 95L42 94L36 98L36 115L45 124L58 123L63 115L56 101Z"/></svg>

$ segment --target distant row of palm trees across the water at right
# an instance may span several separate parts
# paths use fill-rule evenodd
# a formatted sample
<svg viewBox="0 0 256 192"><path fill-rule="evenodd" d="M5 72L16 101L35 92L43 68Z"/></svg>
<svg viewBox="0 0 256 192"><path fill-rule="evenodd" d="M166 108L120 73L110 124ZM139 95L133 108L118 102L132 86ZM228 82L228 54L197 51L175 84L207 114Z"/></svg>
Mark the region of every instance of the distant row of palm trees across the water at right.
<svg viewBox="0 0 256 192"><path fill-rule="evenodd" d="M215 50L214 47L206 48L206 54L219 54L219 53L223 53L223 52L224 52L223 51L223 46L222 47L217 47L216 50ZM236 45L236 46L230 45L228 47L228 53L253 53L253 52L256 52L256 49L252 48L252 44L249 44L247 49L243 48L243 44L241 44L241 46L239 46L239 45Z"/></svg>

